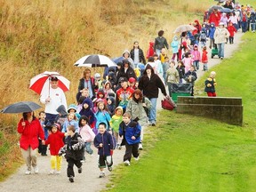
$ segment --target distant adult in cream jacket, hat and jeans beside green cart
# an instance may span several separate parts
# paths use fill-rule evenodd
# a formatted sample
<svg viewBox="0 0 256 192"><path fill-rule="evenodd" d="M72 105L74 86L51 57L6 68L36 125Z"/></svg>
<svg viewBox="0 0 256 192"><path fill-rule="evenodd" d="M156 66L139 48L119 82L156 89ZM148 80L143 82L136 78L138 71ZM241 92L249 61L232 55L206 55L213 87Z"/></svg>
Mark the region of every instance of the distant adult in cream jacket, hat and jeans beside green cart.
<svg viewBox="0 0 256 192"><path fill-rule="evenodd" d="M227 38L230 36L228 29L224 28L224 23L220 22L219 28L216 28L214 32L215 44L218 46L218 56L220 60L224 58L224 46L227 42Z"/></svg>

